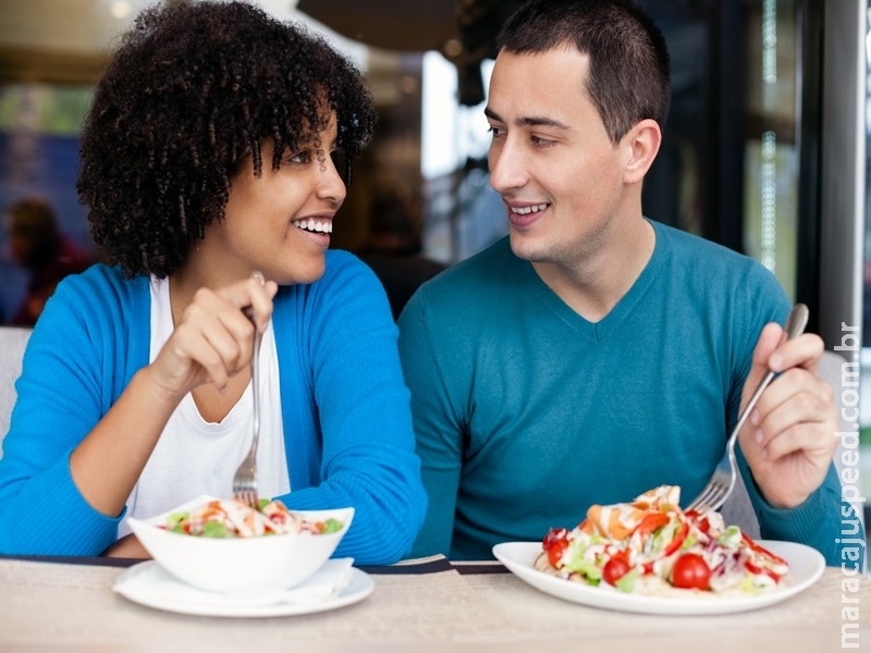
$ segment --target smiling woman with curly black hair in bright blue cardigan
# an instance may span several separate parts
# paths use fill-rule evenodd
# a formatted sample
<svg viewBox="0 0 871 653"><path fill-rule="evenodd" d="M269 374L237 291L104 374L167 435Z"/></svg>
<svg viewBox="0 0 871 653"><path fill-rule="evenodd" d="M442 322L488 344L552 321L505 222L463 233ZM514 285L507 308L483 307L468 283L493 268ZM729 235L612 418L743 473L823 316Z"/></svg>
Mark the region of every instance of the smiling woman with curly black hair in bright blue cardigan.
<svg viewBox="0 0 871 653"><path fill-rule="evenodd" d="M112 267L68 278L25 353L0 553L147 555L116 541L125 516L231 495L252 439L247 307L260 495L354 506L336 555L408 552L426 495L395 326L371 271L328 250L349 173L333 157L373 122L359 73L298 25L223 2L137 19L81 140Z"/></svg>

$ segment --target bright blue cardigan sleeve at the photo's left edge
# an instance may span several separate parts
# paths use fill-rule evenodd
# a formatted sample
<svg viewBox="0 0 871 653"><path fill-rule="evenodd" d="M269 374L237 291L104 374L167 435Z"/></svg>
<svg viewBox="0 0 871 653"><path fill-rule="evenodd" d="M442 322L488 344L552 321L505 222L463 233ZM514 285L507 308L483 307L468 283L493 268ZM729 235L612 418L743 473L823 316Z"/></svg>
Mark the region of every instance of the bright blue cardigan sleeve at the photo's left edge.
<svg viewBox="0 0 871 653"><path fill-rule="evenodd" d="M97 288L96 269L63 281L28 342L0 460L0 553L98 555L115 540L123 513L95 510L69 465L111 403L106 377L118 375L107 373L106 320L94 317L112 293Z"/></svg>

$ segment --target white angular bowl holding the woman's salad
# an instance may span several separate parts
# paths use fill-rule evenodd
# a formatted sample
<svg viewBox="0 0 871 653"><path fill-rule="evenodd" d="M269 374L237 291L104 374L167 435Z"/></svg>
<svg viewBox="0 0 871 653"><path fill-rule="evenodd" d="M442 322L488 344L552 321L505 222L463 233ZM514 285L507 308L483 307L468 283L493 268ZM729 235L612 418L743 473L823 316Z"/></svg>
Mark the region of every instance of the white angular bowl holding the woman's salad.
<svg viewBox="0 0 871 653"><path fill-rule="evenodd" d="M213 500L203 495L149 519L127 518L139 542L167 571L212 592L281 590L299 584L330 558L354 517L354 508L293 510L310 521L333 518L342 522L341 530L323 534L214 539L161 528L170 514L193 510Z"/></svg>

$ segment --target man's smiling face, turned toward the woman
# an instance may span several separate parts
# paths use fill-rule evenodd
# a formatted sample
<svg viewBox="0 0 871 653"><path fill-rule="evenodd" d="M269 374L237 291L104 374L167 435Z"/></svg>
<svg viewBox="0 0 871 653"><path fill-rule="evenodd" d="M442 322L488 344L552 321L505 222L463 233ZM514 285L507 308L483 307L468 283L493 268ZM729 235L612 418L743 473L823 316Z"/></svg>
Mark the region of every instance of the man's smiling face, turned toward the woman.
<svg viewBox="0 0 871 653"><path fill-rule="evenodd" d="M615 146L585 90L588 57L573 48L501 52L486 113L490 183L502 196L520 258L572 267L614 239L629 215Z"/></svg>

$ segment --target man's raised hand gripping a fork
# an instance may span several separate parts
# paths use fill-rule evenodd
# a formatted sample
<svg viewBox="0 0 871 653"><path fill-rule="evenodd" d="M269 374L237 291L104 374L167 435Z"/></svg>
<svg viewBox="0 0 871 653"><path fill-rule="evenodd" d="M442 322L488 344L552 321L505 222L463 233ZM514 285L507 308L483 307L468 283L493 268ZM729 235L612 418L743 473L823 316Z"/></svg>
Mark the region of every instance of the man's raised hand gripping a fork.
<svg viewBox="0 0 871 653"><path fill-rule="evenodd" d="M741 408L769 369L778 375L759 398L738 435L741 452L764 498L792 508L817 490L832 463L837 440L834 391L817 377L823 342L803 334L788 342L768 324L753 352Z"/></svg>

